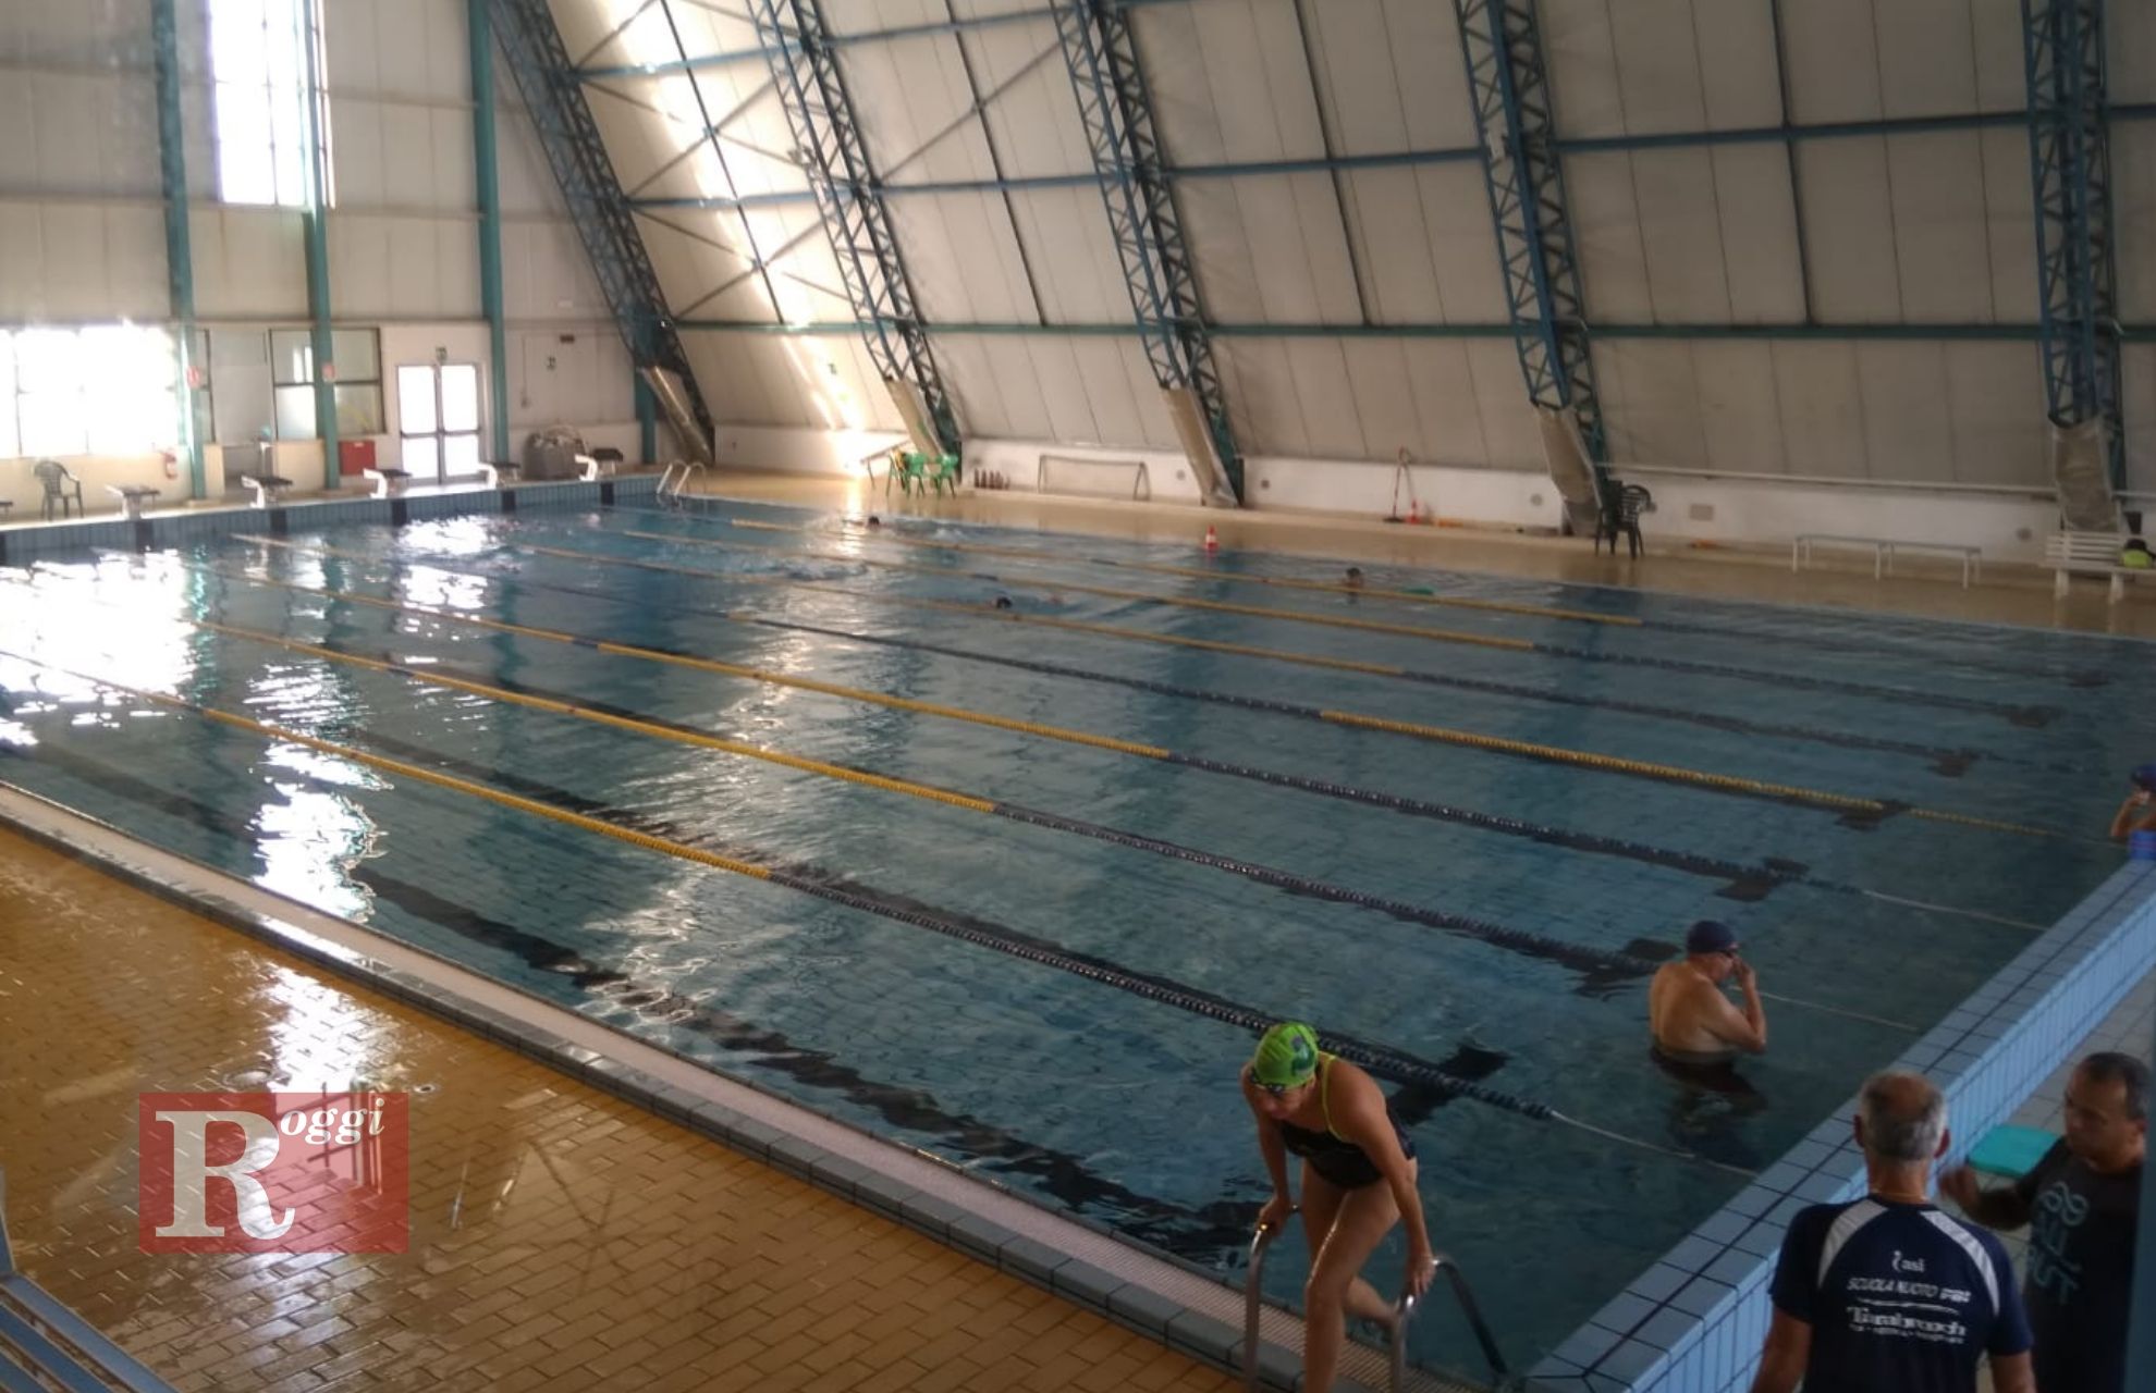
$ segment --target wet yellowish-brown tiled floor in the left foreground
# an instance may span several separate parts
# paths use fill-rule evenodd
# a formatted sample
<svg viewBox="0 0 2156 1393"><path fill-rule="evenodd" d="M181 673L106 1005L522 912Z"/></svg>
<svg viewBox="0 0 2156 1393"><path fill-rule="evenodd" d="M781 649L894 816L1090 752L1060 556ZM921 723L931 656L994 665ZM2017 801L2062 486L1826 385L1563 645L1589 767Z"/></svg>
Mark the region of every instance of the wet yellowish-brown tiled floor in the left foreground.
<svg viewBox="0 0 2156 1393"><path fill-rule="evenodd" d="M412 1093L401 1255L151 1257L136 1093ZM19 1266L181 1389L1229 1389L617 1098L0 832Z"/></svg>

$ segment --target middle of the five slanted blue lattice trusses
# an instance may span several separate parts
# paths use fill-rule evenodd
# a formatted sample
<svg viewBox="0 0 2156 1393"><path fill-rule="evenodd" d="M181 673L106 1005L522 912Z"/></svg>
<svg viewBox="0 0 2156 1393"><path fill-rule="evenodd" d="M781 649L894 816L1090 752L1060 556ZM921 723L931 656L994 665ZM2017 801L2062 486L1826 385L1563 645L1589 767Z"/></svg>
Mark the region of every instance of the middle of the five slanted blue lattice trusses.
<svg viewBox="0 0 2156 1393"><path fill-rule="evenodd" d="M1231 502L1240 505L1242 451L1229 427L1227 392L1220 390L1205 306L1190 272L1190 246L1160 157L1153 101L1145 91L1130 15L1117 0L1054 0L1052 9L1153 382L1197 397Z"/></svg>

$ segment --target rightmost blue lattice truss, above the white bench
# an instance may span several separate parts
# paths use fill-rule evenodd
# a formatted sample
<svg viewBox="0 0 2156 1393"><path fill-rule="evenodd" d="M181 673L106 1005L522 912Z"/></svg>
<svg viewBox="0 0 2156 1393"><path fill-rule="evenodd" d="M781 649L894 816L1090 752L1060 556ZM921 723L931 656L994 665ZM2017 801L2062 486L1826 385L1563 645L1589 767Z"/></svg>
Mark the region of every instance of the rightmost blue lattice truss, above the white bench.
<svg viewBox="0 0 2156 1393"><path fill-rule="evenodd" d="M2126 487L2119 304L2104 119L2102 0L2022 0L2044 401L2059 425L2102 420Z"/></svg>

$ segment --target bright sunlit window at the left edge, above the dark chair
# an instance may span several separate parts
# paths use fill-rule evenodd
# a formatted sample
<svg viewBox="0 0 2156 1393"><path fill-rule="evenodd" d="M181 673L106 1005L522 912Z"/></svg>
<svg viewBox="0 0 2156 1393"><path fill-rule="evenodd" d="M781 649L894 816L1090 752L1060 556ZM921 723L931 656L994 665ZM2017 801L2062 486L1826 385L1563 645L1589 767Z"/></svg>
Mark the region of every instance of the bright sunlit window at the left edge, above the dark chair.
<svg viewBox="0 0 2156 1393"><path fill-rule="evenodd" d="M0 455L142 455L179 440L179 362L157 328L0 330Z"/></svg>

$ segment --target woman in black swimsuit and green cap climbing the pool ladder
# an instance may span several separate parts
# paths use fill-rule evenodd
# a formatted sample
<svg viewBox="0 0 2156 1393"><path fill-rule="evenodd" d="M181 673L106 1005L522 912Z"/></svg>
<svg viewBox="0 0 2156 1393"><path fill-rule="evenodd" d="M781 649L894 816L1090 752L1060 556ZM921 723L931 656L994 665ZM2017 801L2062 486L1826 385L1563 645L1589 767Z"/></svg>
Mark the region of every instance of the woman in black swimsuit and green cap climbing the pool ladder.
<svg viewBox="0 0 2156 1393"><path fill-rule="evenodd" d="M1406 1292L1421 1296L1436 1274L1423 1201L1414 1190L1414 1143L1393 1121L1384 1093L1363 1070L1317 1048L1317 1033L1281 1022L1242 1067L1242 1095L1257 1117L1257 1149L1272 1199L1257 1214L1279 1231L1296 1212L1287 1156L1302 1158L1302 1223L1311 1279L1302 1287L1302 1387L1326 1393L1348 1337L1348 1315L1391 1324L1393 1307L1363 1281L1363 1264L1406 1216Z"/></svg>

